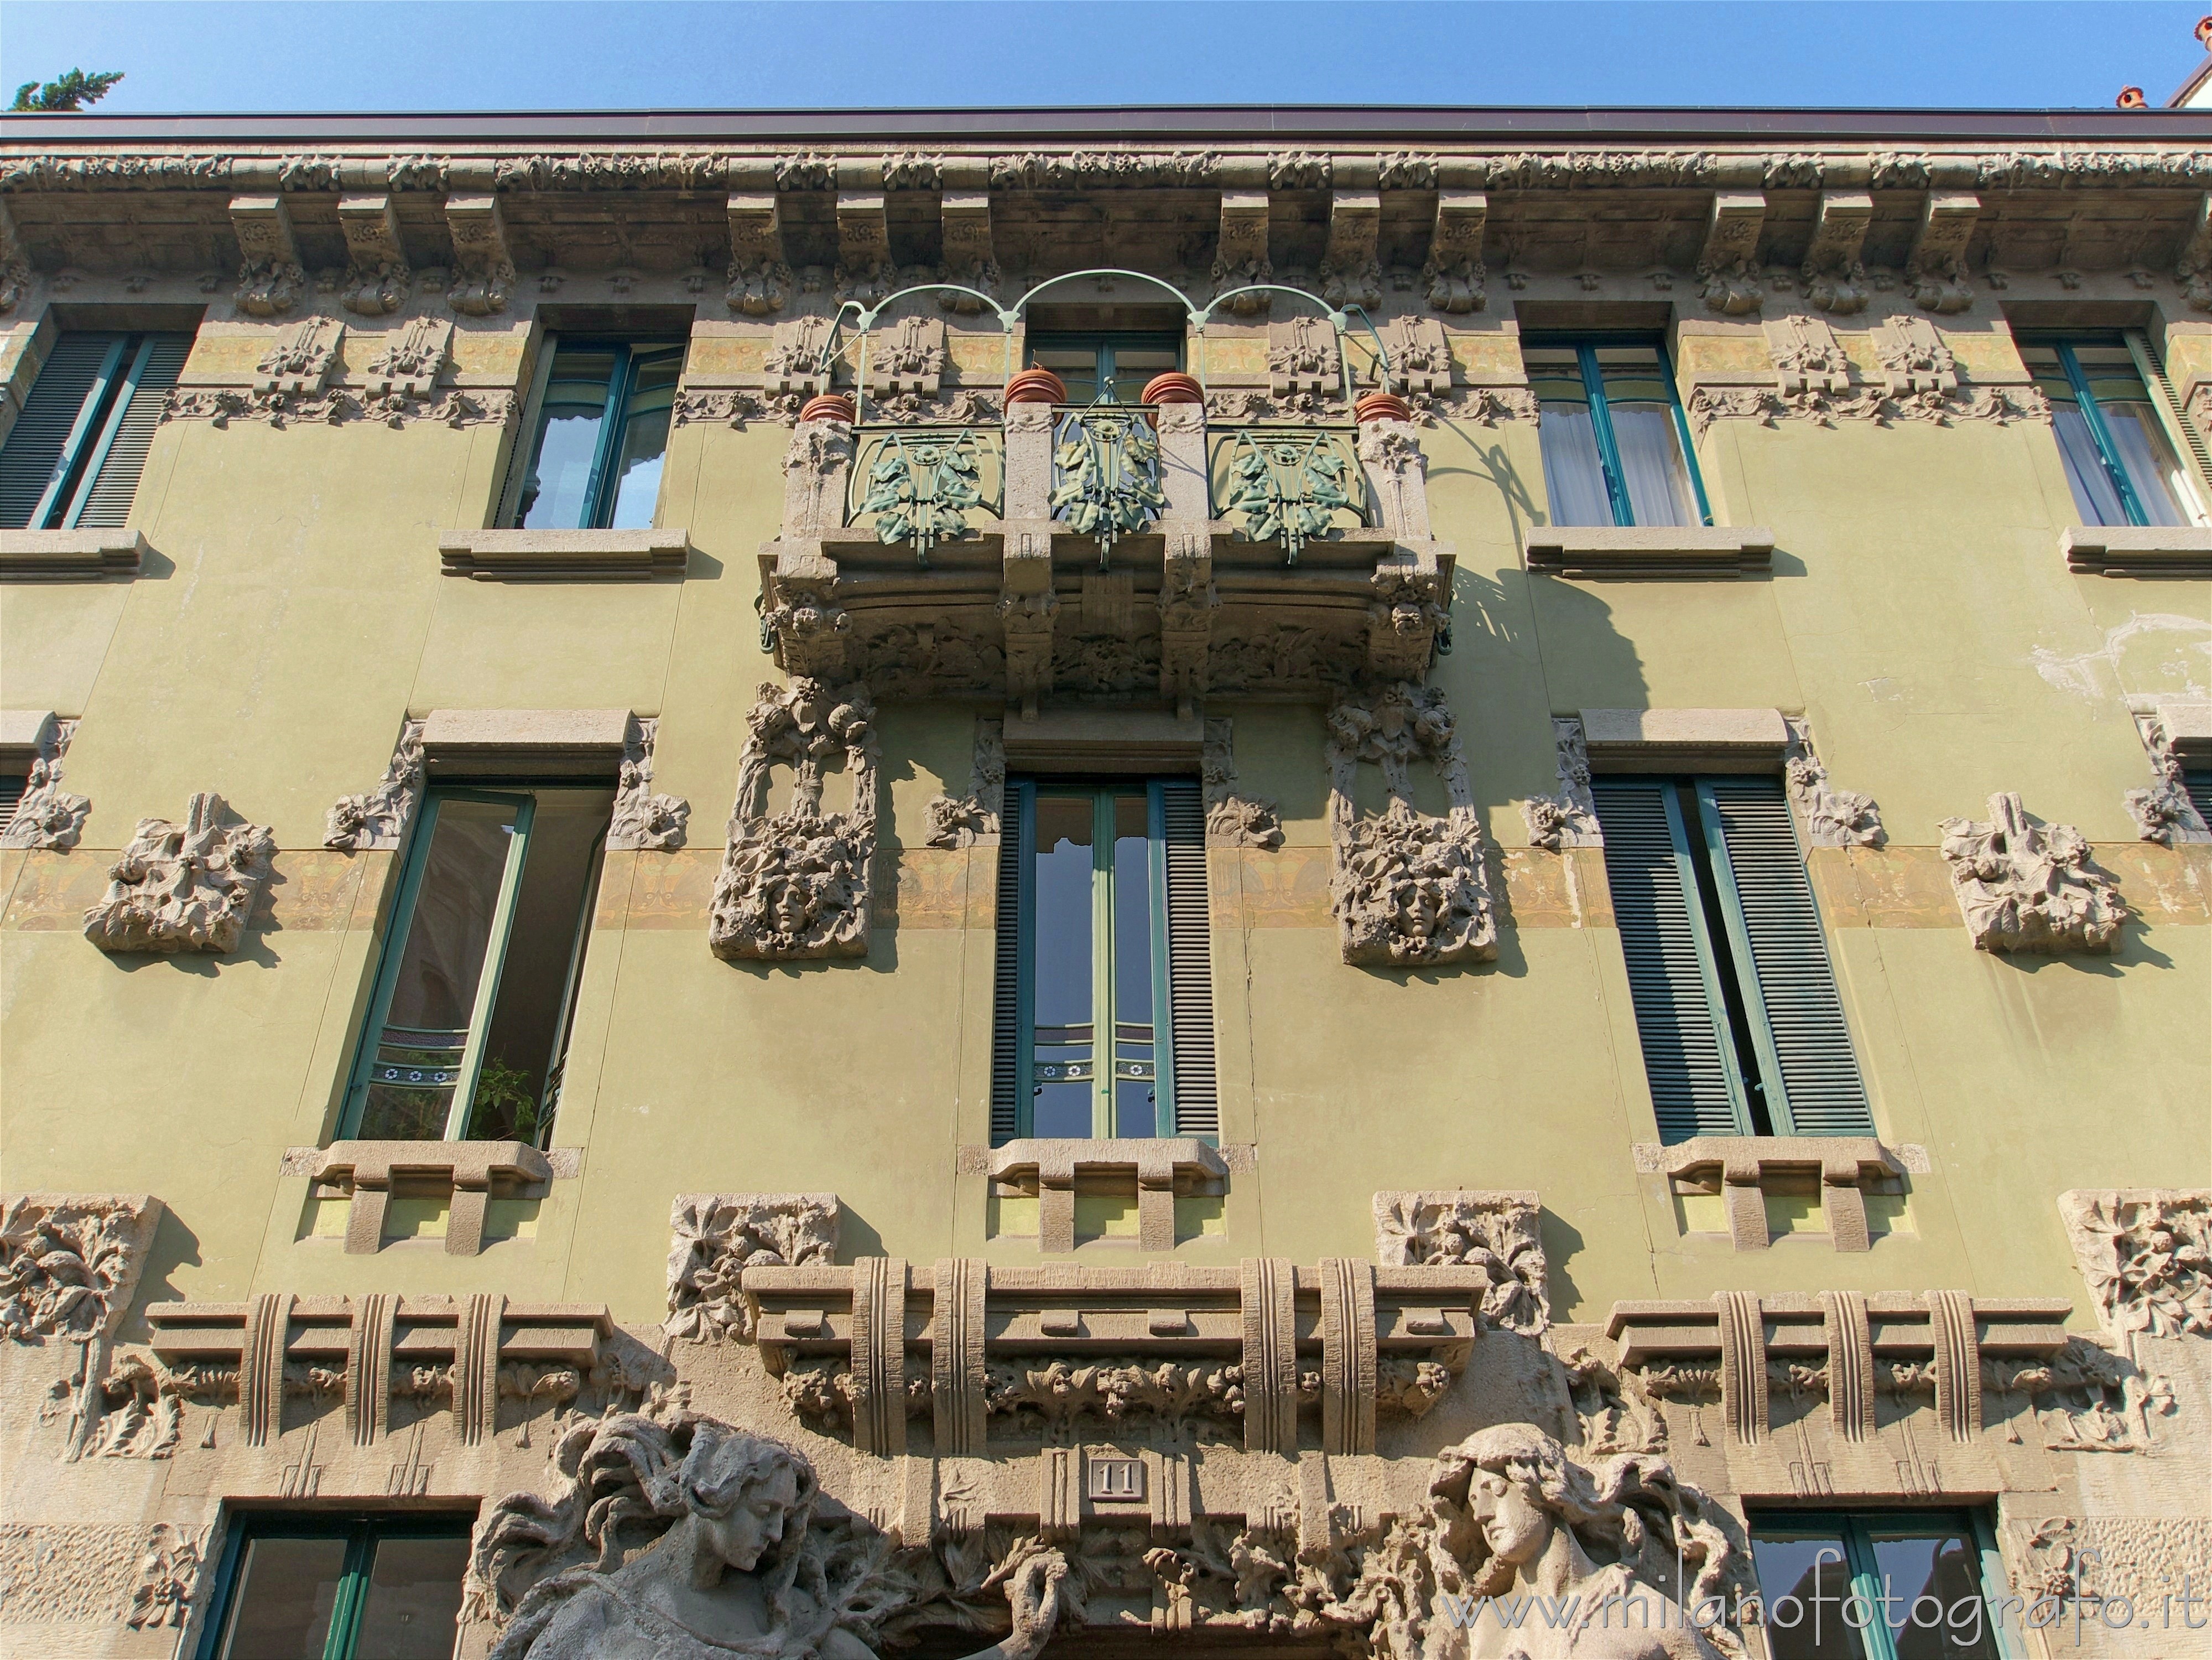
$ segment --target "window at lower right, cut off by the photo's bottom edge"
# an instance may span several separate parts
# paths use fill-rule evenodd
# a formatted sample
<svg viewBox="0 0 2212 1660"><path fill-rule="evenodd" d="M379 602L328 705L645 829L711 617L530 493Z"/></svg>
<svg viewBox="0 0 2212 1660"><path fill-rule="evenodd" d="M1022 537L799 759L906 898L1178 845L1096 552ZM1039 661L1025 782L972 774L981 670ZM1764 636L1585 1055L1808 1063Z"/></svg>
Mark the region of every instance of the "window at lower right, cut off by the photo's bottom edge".
<svg viewBox="0 0 2212 1660"><path fill-rule="evenodd" d="M1995 1538L1978 1516L1752 1516L1772 1660L2000 1660ZM1887 1600L1885 1600L1887 1598Z"/></svg>

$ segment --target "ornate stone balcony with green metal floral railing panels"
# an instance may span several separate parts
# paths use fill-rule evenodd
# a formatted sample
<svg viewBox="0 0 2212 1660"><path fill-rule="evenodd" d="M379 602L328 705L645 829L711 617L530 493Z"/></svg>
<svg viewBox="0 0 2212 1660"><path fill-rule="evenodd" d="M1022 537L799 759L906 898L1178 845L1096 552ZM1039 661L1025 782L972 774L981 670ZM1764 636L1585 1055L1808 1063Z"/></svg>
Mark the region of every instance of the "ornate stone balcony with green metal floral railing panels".
<svg viewBox="0 0 2212 1660"><path fill-rule="evenodd" d="M1068 405L1026 370L1004 418L801 412L761 618L794 675L878 697L1312 702L1420 679L1444 646L1451 551L1429 536L1407 407L1352 423L1210 423L1164 374L1137 405Z"/></svg>

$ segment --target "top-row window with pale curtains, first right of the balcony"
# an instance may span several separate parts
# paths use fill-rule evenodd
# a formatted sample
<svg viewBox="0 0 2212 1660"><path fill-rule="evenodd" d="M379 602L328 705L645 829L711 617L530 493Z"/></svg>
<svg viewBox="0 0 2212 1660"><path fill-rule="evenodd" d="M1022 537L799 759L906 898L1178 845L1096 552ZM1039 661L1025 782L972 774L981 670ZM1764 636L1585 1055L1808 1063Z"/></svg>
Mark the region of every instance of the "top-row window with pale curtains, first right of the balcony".
<svg viewBox="0 0 2212 1660"><path fill-rule="evenodd" d="M1659 341L1531 334L1553 525L1710 525L1674 367Z"/></svg>

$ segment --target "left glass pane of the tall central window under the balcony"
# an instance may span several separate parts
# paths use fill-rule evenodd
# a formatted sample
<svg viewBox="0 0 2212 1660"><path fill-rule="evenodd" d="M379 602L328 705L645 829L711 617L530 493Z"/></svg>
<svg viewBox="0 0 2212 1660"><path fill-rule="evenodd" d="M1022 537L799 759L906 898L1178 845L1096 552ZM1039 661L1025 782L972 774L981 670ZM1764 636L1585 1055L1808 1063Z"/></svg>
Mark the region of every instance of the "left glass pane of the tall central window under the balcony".
<svg viewBox="0 0 2212 1660"><path fill-rule="evenodd" d="M1037 795L1033 1135L1091 1133L1091 808L1088 795Z"/></svg>

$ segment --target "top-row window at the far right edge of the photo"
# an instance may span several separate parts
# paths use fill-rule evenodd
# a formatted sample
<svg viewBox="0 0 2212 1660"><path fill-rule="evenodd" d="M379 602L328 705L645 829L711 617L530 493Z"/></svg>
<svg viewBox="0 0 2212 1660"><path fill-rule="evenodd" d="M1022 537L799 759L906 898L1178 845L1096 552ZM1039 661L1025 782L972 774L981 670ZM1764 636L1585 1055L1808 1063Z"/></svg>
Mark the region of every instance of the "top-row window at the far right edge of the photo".
<svg viewBox="0 0 2212 1660"><path fill-rule="evenodd" d="M2163 372L2139 334L2024 336L2020 356L2051 398L2066 483L2084 525L2203 525L2163 405Z"/></svg>

